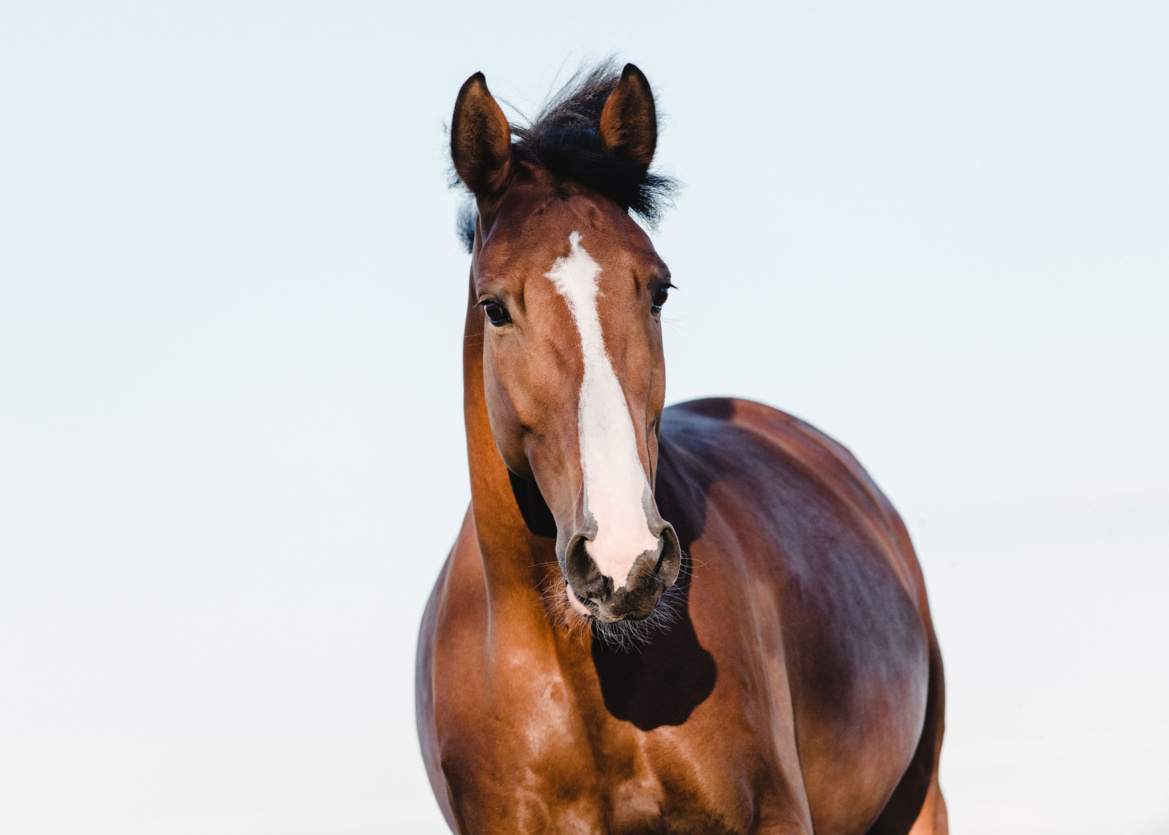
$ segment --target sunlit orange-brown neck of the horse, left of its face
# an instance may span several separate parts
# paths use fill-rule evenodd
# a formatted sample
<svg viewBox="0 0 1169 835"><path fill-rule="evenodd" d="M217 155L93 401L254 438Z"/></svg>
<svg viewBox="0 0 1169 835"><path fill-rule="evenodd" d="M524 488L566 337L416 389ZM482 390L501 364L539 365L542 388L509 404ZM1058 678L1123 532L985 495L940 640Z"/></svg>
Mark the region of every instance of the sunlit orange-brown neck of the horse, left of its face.
<svg viewBox="0 0 1169 835"><path fill-rule="evenodd" d="M463 338L463 416L471 515L487 584L487 606L493 617L516 609L539 614L547 621L541 587L556 566L555 544L528 530L491 434L483 389L483 313L472 297Z"/></svg>

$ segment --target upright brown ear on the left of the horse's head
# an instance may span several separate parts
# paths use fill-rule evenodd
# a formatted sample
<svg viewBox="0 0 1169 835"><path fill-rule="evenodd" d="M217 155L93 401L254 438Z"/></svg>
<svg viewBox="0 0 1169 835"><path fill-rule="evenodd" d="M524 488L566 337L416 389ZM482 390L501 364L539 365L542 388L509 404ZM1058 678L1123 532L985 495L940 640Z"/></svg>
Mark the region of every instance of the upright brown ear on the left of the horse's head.
<svg viewBox="0 0 1169 835"><path fill-rule="evenodd" d="M491 195L507 180L511 127L482 73L468 78L458 91L450 123L450 157L458 179L477 198Z"/></svg>

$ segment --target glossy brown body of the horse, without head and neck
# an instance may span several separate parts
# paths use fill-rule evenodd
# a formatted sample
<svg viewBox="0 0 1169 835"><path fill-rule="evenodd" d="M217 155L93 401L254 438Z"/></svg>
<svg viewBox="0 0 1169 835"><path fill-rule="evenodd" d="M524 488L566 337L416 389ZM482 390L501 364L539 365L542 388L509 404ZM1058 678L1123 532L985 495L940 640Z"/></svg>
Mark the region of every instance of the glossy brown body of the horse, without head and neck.
<svg viewBox="0 0 1169 835"><path fill-rule="evenodd" d="M636 654L549 628L533 573L490 607L469 511L419 670L452 828L864 833L919 748L901 792L924 798L935 643L886 499L825 436L746 401L666 409L659 462L663 513L697 520L676 522L692 567L684 619ZM551 541L527 536L530 564L553 563Z"/></svg>

